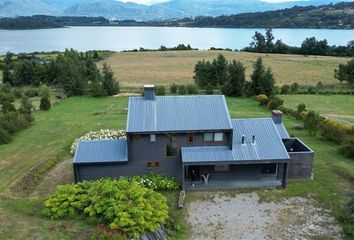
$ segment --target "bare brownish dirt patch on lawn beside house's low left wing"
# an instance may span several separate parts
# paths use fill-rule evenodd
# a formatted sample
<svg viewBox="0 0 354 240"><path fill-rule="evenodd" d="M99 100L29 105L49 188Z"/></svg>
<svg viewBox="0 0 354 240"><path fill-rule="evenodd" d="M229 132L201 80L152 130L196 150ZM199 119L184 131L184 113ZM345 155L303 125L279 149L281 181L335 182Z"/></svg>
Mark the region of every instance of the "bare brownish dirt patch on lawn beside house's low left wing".
<svg viewBox="0 0 354 240"><path fill-rule="evenodd" d="M30 195L31 197L46 197L54 193L57 185L74 182L74 172L72 159L64 160L58 163L52 169L37 188Z"/></svg>

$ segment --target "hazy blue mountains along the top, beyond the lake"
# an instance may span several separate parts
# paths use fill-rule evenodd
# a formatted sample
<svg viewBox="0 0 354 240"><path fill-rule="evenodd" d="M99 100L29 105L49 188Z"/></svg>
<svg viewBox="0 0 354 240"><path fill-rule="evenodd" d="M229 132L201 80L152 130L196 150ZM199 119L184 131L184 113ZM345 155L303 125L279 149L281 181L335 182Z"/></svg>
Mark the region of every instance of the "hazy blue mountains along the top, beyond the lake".
<svg viewBox="0 0 354 240"><path fill-rule="evenodd" d="M195 16L220 16L259 12L340 0L267 3L261 0L171 0L151 6L116 0L0 0L0 17L55 15L103 16L108 19L149 21Z"/></svg>

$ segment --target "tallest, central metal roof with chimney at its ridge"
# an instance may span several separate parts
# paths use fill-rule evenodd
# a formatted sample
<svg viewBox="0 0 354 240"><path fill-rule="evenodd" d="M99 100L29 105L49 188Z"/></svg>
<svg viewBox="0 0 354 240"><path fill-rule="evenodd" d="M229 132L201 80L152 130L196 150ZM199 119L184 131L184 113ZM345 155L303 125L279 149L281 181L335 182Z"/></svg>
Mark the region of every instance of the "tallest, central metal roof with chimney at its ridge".
<svg viewBox="0 0 354 240"><path fill-rule="evenodd" d="M127 132L232 129L223 95L130 97Z"/></svg>

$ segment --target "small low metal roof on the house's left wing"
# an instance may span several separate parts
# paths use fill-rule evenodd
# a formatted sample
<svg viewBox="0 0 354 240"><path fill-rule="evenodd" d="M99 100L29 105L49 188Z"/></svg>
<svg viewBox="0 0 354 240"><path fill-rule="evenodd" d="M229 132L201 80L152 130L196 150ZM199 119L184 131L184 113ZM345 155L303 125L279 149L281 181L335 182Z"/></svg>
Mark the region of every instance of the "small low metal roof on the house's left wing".
<svg viewBox="0 0 354 240"><path fill-rule="evenodd" d="M127 140L93 140L79 142L74 164L114 163L128 161Z"/></svg>

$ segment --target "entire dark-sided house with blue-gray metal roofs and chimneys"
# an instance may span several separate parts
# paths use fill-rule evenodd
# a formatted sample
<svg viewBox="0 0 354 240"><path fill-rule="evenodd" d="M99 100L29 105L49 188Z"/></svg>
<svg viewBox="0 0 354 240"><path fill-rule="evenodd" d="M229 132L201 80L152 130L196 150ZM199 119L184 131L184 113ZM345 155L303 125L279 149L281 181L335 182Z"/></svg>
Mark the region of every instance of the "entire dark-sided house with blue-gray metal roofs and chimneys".
<svg viewBox="0 0 354 240"><path fill-rule="evenodd" d="M282 112L231 119L223 95L130 97L127 140L80 142L75 180L173 176L184 189L286 187L310 179L314 152L288 135Z"/></svg>

